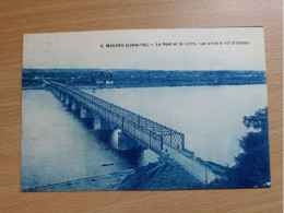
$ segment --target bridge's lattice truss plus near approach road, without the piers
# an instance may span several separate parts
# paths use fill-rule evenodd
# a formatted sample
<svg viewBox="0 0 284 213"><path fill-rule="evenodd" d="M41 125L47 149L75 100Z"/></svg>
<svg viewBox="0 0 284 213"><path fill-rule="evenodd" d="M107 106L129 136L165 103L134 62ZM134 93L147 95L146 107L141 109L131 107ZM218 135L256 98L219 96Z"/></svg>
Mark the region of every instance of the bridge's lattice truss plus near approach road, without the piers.
<svg viewBox="0 0 284 213"><path fill-rule="evenodd" d="M158 155L169 156L201 182L206 184L220 177L210 167L198 162L193 155L187 152L184 133L90 95L76 87L58 82L45 81L45 83L54 90L52 92L59 92L61 95L68 96L71 102L80 103L81 106L119 128L123 133Z"/></svg>

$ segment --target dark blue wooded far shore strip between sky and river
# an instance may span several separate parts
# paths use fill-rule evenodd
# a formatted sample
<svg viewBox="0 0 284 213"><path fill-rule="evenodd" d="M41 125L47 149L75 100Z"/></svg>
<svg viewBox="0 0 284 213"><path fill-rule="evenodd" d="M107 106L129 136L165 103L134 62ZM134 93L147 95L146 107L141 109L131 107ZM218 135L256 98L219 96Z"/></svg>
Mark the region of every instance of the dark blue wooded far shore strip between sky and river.
<svg viewBox="0 0 284 213"><path fill-rule="evenodd" d="M157 87L265 84L265 71L151 71L99 69L23 69L24 86L55 81L97 87Z"/></svg>

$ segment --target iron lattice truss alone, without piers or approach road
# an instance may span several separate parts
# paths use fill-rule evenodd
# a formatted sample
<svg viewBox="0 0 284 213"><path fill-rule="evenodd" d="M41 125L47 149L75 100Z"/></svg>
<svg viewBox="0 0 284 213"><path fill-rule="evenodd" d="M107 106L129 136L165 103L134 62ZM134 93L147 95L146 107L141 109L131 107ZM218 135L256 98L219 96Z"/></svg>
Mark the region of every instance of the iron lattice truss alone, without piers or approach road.
<svg viewBox="0 0 284 213"><path fill-rule="evenodd" d="M76 87L58 82L46 83L157 153L163 151L164 143L179 151L185 150L185 134L181 132L90 95Z"/></svg>

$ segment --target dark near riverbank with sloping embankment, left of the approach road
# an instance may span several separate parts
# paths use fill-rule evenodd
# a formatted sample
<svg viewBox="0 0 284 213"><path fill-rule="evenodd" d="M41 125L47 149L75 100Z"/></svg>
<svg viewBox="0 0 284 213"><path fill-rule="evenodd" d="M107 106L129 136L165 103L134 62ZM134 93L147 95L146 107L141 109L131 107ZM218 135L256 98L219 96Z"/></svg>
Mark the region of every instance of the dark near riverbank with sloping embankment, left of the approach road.
<svg viewBox="0 0 284 213"><path fill-rule="evenodd" d="M167 161L161 164L150 163L135 170L128 169L25 189L23 191L174 190L204 188L204 184L194 178L177 163Z"/></svg>

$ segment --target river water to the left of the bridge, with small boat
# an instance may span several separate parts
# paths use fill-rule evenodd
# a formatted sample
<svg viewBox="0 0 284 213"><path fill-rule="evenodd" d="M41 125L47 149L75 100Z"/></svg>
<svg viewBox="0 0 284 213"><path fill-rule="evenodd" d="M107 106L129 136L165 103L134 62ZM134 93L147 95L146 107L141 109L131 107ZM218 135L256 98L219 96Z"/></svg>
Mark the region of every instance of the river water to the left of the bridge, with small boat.
<svg viewBox="0 0 284 213"><path fill-rule="evenodd" d="M117 152L117 131L90 131L46 91L23 91L22 188L108 174L156 162L146 150ZM102 163L114 162L111 166Z"/></svg>

